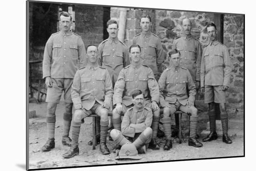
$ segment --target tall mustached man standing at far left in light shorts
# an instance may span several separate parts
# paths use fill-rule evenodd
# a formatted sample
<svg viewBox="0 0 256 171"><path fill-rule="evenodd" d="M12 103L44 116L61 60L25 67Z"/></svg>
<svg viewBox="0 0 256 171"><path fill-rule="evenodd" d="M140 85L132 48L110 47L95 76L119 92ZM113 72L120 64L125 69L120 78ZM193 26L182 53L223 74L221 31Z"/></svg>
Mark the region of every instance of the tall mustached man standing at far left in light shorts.
<svg viewBox="0 0 256 171"><path fill-rule="evenodd" d="M48 140L41 151L50 151L55 147L54 131L56 107L64 91L65 113L62 144L71 146L68 137L72 120L71 85L75 72L85 65L85 47L81 37L70 30L72 16L67 12L60 13L60 32L48 39L43 58L43 78L47 85L47 133Z"/></svg>

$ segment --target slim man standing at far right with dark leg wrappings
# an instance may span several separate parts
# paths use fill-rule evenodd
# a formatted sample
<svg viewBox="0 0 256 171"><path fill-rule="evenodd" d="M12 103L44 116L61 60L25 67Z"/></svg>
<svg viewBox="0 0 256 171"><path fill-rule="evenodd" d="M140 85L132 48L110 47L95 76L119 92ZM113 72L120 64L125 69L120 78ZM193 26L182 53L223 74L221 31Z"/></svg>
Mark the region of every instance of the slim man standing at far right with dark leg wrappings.
<svg viewBox="0 0 256 171"><path fill-rule="evenodd" d="M231 144L228 137L228 113L226 111L226 90L229 87L231 62L227 47L217 41L216 25L207 25L210 43L202 52L201 91L209 105L210 134L203 141L217 139L215 103L219 103L222 121L222 141Z"/></svg>

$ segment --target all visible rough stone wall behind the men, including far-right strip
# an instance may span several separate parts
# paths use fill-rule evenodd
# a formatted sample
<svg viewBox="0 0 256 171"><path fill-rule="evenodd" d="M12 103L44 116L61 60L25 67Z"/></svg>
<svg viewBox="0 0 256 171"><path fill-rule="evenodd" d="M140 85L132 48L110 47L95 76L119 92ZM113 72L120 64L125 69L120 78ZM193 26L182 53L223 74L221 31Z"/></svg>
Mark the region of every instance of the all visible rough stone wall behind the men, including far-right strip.
<svg viewBox="0 0 256 171"><path fill-rule="evenodd" d="M111 19L119 19L119 9L111 8ZM142 13L147 13L152 17L152 32L157 34L161 39L164 50L167 52L172 48L173 40L182 35L182 19L189 18L192 22L191 34L193 37L200 39L200 33L206 28L207 23L216 20L213 13L197 13L182 11L166 10L145 10L145 9L128 9L126 20L125 44L129 47L132 44L132 38L135 34L141 32L139 19ZM227 91L227 111L229 119L243 119L243 15L224 15L224 44L229 49L232 62L232 73L230 88ZM203 42L201 42L203 44ZM204 47L204 44L203 46ZM164 62L162 70L169 64L168 58ZM208 118L208 104L203 102L203 95L200 100L196 101L199 114L199 128L205 129ZM174 117L174 116L172 116ZM174 119L174 118L173 118ZM184 126L188 127L189 116L182 116Z"/></svg>

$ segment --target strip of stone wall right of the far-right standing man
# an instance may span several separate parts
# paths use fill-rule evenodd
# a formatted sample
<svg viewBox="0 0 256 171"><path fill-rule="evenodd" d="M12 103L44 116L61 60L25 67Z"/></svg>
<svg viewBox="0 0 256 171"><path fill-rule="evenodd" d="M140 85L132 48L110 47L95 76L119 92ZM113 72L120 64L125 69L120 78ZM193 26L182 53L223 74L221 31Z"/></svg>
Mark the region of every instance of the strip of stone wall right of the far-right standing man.
<svg viewBox="0 0 256 171"><path fill-rule="evenodd" d="M227 93L229 118L243 119L244 114L244 16L224 15L224 44L232 63L230 88Z"/></svg>

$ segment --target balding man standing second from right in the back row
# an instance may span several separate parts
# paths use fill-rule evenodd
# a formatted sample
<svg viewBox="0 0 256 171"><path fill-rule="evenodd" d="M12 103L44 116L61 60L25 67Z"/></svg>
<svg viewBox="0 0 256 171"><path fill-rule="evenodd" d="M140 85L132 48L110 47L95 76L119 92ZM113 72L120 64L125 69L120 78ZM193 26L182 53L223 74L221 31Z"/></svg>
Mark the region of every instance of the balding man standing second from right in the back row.
<svg viewBox="0 0 256 171"><path fill-rule="evenodd" d="M182 20L182 32L183 36L174 40L173 49L180 52L180 65L189 70L197 90L200 89L201 44L191 35L191 21L187 18Z"/></svg>

